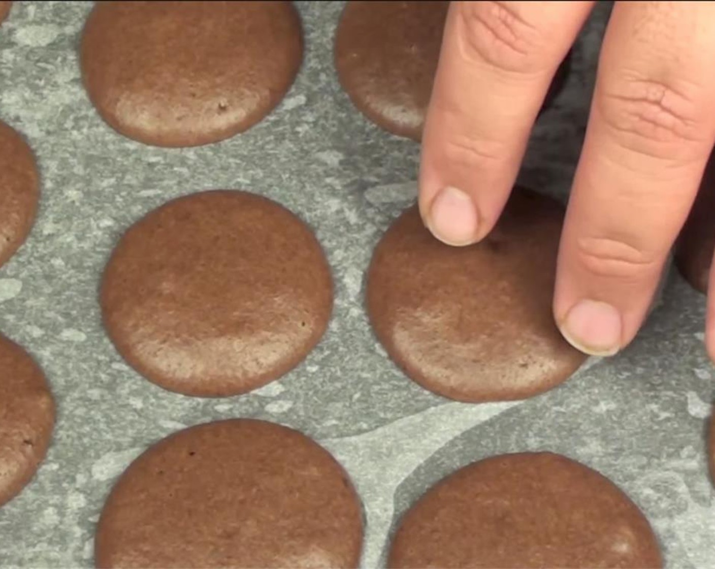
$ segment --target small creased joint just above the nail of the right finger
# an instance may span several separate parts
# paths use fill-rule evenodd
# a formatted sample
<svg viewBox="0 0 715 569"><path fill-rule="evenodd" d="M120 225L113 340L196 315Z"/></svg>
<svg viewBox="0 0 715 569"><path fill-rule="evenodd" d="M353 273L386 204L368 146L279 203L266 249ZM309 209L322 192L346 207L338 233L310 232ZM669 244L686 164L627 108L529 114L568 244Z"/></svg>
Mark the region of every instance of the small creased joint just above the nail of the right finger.
<svg viewBox="0 0 715 569"><path fill-rule="evenodd" d="M656 256L622 240L580 238L577 247L579 261L596 276L632 279L657 267Z"/></svg>

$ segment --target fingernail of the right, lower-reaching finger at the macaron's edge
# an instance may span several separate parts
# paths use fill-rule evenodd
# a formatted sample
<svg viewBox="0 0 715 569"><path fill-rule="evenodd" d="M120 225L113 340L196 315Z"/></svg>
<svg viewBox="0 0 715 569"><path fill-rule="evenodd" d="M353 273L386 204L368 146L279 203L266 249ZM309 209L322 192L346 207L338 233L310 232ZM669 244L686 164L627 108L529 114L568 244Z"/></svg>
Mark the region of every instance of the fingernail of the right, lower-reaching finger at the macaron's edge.
<svg viewBox="0 0 715 569"><path fill-rule="evenodd" d="M608 303L577 303L559 328L566 341L584 354L613 356L621 349L621 314Z"/></svg>

